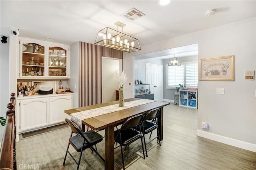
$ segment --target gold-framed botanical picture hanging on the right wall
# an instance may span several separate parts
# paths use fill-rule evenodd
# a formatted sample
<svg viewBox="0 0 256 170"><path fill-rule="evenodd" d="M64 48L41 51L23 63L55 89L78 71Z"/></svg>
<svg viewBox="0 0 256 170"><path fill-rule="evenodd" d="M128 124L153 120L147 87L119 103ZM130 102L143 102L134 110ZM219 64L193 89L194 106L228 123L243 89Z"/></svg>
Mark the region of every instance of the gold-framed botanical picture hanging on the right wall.
<svg viewBox="0 0 256 170"><path fill-rule="evenodd" d="M234 55L199 59L200 81L234 81Z"/></svg>

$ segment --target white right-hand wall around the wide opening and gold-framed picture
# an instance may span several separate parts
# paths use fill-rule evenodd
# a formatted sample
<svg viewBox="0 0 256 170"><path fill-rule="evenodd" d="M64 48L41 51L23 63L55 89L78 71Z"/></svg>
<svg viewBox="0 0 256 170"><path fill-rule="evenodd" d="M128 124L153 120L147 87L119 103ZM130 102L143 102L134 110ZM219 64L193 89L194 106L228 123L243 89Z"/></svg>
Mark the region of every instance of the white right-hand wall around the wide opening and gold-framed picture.
<svg viewBox="0 0 256 170"><path fill-rule="evenodd" d="M197 134L256 152L256 83L244 80L245 70L256 70L255 20L241 20L144 45L141 51L124 56L124 67L134 69L127 65L132 63L131 56L194 43L198 43L199 59L234 55L235 81L198 83ZM217 87L225 88L225 95L217 95ZM202 121L210 125L206 132L201 128Z"/></svg>

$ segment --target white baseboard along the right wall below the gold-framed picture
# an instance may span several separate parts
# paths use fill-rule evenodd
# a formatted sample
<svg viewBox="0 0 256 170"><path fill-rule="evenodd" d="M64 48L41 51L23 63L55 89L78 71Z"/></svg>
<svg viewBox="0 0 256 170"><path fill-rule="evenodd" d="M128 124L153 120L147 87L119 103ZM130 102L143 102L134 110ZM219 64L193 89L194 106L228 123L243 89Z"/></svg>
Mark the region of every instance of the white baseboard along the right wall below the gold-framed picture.
<svg viewBox="0 0 256 170"><path fill-rule="evenodd" d="M210 140L214 140L214 141L217 141L217 142L221 142L221 143L224 143L224 144L228 144L228 145L231 145L231 146L235 146L235 147L238 147L238 148L242 148L242 149L245 149L245 150L250 150L252 152L256 152L256 144L244 142L242 140L228 138L228 137L225 137L225 136L220 136L218 134L204 132L202 130L197 130L196 135L201 136L203 138L208 138Z"/></svg>

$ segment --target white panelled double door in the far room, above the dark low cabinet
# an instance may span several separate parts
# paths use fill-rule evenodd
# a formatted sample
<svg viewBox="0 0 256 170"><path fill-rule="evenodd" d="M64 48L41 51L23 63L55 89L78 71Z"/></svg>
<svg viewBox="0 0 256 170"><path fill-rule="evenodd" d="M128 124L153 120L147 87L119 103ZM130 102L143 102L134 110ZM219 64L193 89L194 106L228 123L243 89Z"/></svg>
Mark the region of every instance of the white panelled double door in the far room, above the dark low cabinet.
<svg viewBox="0 0 256 170"><path fill-rule="evenodd" d="M163 100L163 65L146 63L145 81L150 84L150 91L154 93L154 100Z"/></svg>

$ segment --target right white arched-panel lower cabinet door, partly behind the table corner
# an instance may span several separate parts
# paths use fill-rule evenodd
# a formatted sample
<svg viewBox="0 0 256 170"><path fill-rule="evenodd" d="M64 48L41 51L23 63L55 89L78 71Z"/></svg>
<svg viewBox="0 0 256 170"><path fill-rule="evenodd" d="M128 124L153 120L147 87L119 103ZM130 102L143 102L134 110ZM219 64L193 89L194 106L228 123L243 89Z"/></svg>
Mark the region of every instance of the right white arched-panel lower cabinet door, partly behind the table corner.
<svg viewBox="0 0 256 170"><path fill-rule="evenodd" d="M64 111L73 108L72 103L72 96L51 97L49 124L60 123L66 118L70 118Z"/></svg>

